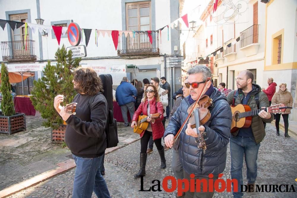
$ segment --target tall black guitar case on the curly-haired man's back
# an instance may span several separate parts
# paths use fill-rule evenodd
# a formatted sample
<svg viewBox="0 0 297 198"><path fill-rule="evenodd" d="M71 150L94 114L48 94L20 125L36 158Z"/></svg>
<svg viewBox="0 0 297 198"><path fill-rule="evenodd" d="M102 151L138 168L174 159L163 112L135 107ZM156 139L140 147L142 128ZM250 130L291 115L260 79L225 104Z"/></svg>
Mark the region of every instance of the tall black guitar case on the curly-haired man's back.
<svg viewBox="0 0 297 198"><path fill-rule="evenodd" d="M108 123L105 128L105 134L107 139L107 148L111 148L117 146L119 143L116 119L113 118L113 82L110 74L101 74L99 77L102 80L104 89L103 95L105 96L108 104Z"/></svg>

